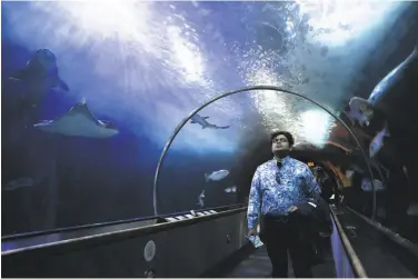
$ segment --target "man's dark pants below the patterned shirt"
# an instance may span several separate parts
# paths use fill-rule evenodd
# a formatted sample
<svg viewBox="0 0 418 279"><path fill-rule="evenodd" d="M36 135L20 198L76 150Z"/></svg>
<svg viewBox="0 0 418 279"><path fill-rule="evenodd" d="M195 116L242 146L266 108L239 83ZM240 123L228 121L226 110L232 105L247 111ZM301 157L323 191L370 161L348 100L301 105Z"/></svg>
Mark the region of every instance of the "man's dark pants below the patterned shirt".
<svg viewBox="0 0 418 279"><path fill-rule="evenodd" d="M312 277L311 247L303 240L302 226L298 218L263 216L260 227L260 239L271 260L273 278L288 277L288 251L295 277Z"/></svg>

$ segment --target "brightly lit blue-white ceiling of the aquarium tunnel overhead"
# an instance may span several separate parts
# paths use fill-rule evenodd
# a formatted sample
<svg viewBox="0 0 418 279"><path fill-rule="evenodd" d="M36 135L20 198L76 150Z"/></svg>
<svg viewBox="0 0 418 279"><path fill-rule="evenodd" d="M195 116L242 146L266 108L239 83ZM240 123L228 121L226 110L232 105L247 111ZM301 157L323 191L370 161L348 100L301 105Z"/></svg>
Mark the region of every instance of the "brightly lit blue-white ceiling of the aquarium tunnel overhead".
<svg viewBox="0 0 418 279"><path fill-rule="evenodd" d="M366 86L364 72L392 57L408 30L407 23L398 32L392 28L409 7L391 1L42 1L3 3L3 14L4 36L29 50L49 48L57 54L69 98L87 98L97 114L161 145L191 110L245 86L282 87L338 113L351 96L368 96L378 81L382 73ZM283 93L232 96L199 114L230 128L187 124L173 149L233 151L272 129L293 132L299 143L328 140L352 148L326 112Z"/></svg>

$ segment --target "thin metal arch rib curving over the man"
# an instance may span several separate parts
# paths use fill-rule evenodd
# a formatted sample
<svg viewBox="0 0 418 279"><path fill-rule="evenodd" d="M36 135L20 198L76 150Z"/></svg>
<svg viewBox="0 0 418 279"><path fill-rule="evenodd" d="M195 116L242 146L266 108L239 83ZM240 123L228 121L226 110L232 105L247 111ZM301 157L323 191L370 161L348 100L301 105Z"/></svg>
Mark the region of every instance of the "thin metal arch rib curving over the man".
<svg viewBox="0 0 418 279"><path fill-rule="evenodd" d="M329 116L331 116L335 120L337 120L339 123L341 123L344 126L344 128L347 129L347 131L349 132L349 134L355 139L356 141L356 145L357 147L360 149L361 151L361 155L366 161L366 166L367 166L367 171L369 172L369 177L370 177L370 182L371 182L371 189L372 189L372 210L371 210L371 220L375 220L375 215L376 215L376 189L375 189L375 179L374 179L374 175L372 175L372 171L371 171L371 166L370 166L370 162L368 160L368 157L364 150L364 148L361 147L358 138L356 137L356 134L352 132L352 130L348 127L348 124L342 120L340 119L338 116L336 116L335 113L332 113L332 111L330 111L329 109L327 109L325 106L320 104L319 102L310 99L309 97L306 97L303 94L300 94L300 93L296 93L296 92L292 92L292 91L289 91L289 90L286 90L286 89L282 89L282 88L279 88L279 87L275 87L275 86L252 86L252 87L243 87L243 88L240 88L240 89L237 89L237 90L232 90L232 91L227 91L227 92L223 92L219 96L216 96L213 97L212 99L208 100L206 103L201 104L200 107L198 107L197 109L195 109L193 111L191 111L189 113L189 116L187 116L175 129L175 131L172 132L172 134L170 136L170 138L168 139L162 152L161 152L161 156L160 156L160 159L158 161L158 165L157 165L157 170L156 170L156 175L155 175L155 179L153 179L153 189L152 189L152 201L153 201L153 213L155 216L157 217L158 216L158 181L159 181L159 176L160 176L160 170L161 170L161 167L162 167L162 163L166 159L166 156L167 156L167 152L168 150L170 149L170 146L172 143L172 141L176 139L177 134L180 132L180 130L183 128L183 126L196 114L198 113L200 110L205 109L206 107L208 107L209 104L211 104L212 102L216 102L217 100L220 100L225 97L229 97L229 96L232 96L232 94L236 94L236 93L242 93L242 92L248 92L248 91L253 91L253 90L266 90L266 91L269 91L269 92L273 92L273 93L277 93L277 92L282 92L282 93L286 93L286 94L290 94L290 96L295 96L295 97L299 97L303 100L307 100L308 102L310 103L314 103L315 106L317 106L318 108L322 109L324 111L326 111Z"/></svg>

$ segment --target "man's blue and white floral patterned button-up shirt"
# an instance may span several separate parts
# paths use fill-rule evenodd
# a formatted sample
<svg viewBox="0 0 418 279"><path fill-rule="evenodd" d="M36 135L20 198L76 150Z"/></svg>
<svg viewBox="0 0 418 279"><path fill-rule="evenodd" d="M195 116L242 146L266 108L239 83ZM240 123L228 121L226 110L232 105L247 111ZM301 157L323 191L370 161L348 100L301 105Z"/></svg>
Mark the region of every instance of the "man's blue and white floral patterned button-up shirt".
<svg viewBox="0 0 418 279"><path fill-rule="evenodd" d="M317 200L321 190L309 167L296 159L285 157L281 167L276 159L256 170L248 201L248 228L255 228L260 215L287 216L291 206Z"/></svg>

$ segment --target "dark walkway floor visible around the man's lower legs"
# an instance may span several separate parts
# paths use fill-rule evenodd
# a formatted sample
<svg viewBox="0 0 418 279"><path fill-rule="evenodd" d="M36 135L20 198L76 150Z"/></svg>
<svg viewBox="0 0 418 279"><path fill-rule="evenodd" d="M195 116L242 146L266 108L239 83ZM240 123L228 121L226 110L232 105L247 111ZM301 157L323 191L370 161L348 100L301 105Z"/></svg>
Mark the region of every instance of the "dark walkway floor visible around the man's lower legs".
<svg viewBox="0 0 418 279"><path fill-rule="evenodd" d="M312 268L314 278L335 278L335 265L330 249L325 251L325 261ZM289 258L289 277L295 278ZM261 247L235 266L223 278L271 278L271 265L266 247Z"/></svg>

